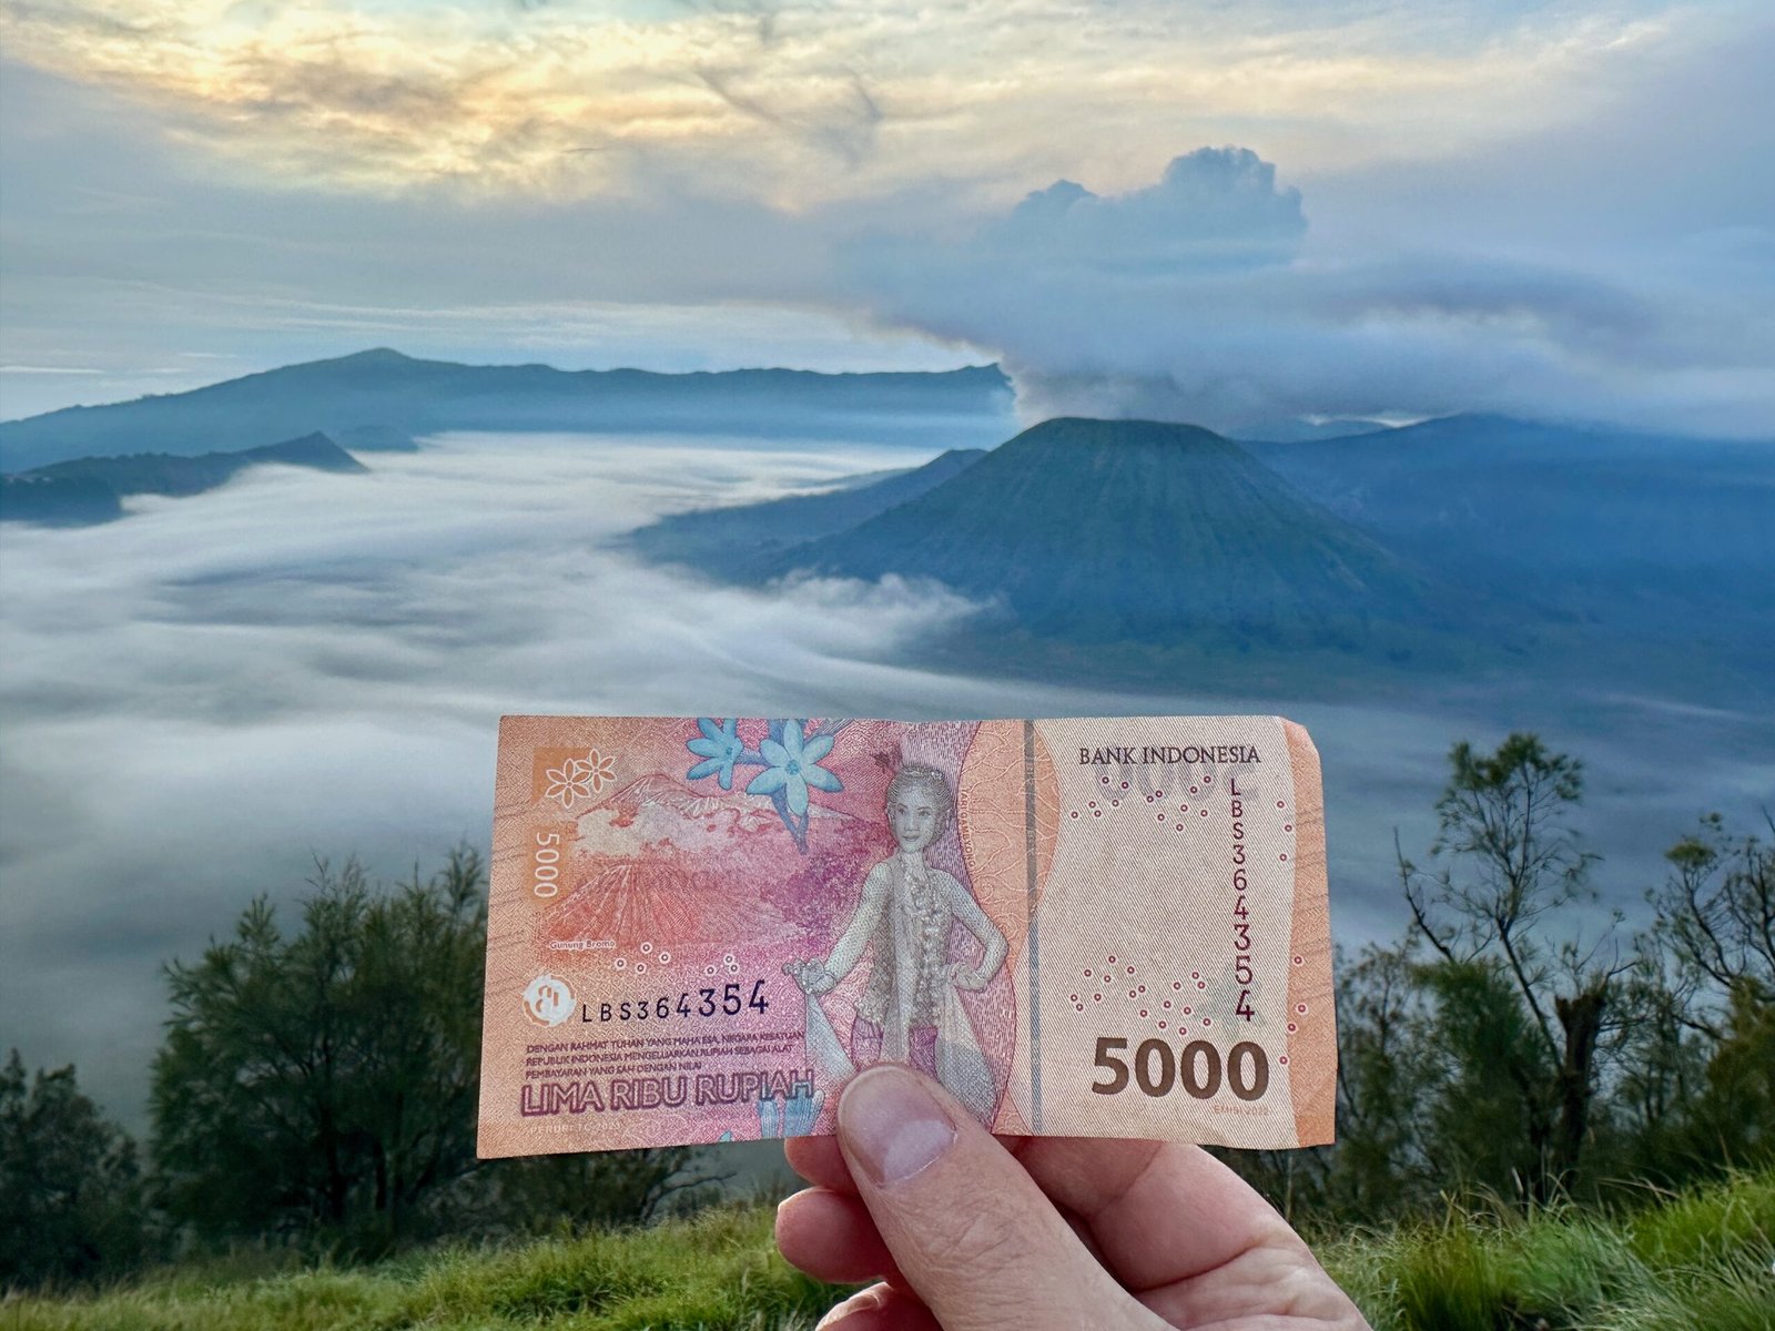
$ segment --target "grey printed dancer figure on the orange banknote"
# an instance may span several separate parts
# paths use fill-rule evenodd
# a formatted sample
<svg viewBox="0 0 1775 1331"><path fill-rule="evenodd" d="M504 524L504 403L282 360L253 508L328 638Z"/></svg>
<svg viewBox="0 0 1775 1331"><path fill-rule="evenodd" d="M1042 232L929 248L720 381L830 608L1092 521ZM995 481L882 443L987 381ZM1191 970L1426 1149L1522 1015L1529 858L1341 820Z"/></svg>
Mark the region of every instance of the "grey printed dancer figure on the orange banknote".
<svg viewBox="0 0 1775 1331"><path fill-rule="evenodd" d="M998 1088L958 990L978 992L992 983L1005 965L1005 933L955 875L925 859L955 816L948 777L935 767L905 763L888 783L886 806L898 850L864 877L832 951L824 960L783 967L808 994L808 1051L838 1077L882 1059L911 1063L978 1118L990 1120ZM978 941L976 962L951 960L955 923ZM868 983L845 1058L820 996L832 992L864 951Z"/></svg>

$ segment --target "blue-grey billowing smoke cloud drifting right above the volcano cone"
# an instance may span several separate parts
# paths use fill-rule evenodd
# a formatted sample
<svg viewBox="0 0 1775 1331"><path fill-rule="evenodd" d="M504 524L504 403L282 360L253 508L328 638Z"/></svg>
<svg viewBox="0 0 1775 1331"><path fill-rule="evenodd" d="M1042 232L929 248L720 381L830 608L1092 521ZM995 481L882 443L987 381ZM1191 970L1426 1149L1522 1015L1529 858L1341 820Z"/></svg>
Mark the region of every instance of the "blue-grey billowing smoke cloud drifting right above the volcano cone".
<svg viewBox="0 0 1775 1331"><path fill-rule="evenodd" d="M1031 419L1241 433L1495 410L1764 437L1763 236L1732 232L1686 268L1668 247L1656 268L1315 247L1269 163L1200 149L1150 186L1102 197L1060 181L962 240L877 234L843 263L889 327L994 348ZM1722 282L1720 266L1745 273Z"/></svg>

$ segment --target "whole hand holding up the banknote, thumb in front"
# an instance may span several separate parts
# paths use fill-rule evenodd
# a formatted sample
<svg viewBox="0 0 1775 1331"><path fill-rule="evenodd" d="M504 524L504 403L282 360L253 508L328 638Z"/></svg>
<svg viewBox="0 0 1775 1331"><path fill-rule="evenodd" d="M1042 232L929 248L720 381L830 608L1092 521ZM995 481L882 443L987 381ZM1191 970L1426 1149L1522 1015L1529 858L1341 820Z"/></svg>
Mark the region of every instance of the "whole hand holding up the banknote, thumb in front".
<svg viewBox="0 0 1775 1331"><path fill-rule="evenodd" d="M838 1331L1367 1331L1294 1230L1196 1146L994 1139L941 1086L861 1072L836 1138L786 1143L777 1210L816 1280L882 1278Z"/></svg>

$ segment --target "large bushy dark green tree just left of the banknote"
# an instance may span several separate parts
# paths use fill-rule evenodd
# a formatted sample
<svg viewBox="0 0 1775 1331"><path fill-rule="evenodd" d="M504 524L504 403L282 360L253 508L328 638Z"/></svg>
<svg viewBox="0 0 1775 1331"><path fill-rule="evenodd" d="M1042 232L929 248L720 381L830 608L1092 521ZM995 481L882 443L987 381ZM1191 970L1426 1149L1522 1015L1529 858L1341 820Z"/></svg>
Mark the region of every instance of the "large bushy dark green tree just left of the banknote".
<svg viewBox="0 0 1775 1331"><path fill-rule="evenodd" d="M476 1168L481 859L456 850L396 891L321 862L311 886L293 937L261 896L231 941L167 967L154 1157L199 1233L376 1249Z"/></svg>

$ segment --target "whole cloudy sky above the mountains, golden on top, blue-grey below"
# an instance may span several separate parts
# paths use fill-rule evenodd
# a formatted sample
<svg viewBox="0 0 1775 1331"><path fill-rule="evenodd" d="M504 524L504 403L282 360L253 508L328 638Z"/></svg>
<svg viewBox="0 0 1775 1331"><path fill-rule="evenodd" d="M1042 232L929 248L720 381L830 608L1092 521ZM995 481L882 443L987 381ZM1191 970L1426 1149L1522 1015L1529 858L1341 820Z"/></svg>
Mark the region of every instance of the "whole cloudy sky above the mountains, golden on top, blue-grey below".
<svg viewBox="0 0 1775 1331"><path fill-rule="evenodd" d="M1775 433L1752 0L5 0L0 43L0 417L392 344Z"/></svg>

